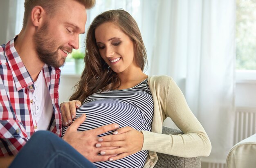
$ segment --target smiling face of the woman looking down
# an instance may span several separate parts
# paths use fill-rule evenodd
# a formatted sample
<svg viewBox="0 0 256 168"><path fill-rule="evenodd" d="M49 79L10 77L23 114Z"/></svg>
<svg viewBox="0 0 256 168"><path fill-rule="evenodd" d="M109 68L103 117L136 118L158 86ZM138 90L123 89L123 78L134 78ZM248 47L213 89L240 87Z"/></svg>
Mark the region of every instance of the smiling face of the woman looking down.
<svg viewBox="0 0 256 168"><path fill-rule="evenodd" d="M134 60L134 43L112 22L105 22L95 29L99 53L116 73L131 72L138 66Z"/></svg>

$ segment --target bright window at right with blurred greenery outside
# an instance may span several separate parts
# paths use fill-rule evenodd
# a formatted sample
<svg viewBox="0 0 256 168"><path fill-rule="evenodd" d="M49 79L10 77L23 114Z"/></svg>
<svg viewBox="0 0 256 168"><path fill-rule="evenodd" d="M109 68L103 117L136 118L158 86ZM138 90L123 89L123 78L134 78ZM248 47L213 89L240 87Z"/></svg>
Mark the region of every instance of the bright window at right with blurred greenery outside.
<svg viewBox="0 0 256 168"><path fill-rule="evenodd" d="M236 69L256 70L256 0L236 0Z"/></svg>

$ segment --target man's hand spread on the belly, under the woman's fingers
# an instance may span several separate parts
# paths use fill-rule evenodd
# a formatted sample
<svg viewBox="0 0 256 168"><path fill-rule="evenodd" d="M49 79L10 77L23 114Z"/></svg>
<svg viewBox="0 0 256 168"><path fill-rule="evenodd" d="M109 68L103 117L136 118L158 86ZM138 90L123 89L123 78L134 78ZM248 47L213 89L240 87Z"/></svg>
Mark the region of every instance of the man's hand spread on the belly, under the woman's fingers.
<svg viewBox="0 0 256 168"><path fill-rule="evenodd" d="M101 150L109 150L115 149L118 147L100 147L96 148L96 143L98 143L100 134L103 134L108 131L116 130L119 128L118 124L110 124L105 125L99 128L95 128L93 130L78 132L77 128L85 121L85 114L81 117L77 118L69 128L65 135L63 136L63 140L69 143L73 148L75 148L79 153L81 153L84 157L86 157L91 162L96 161L107 161L110 157L116 156L116 154L111 155L98 155Z"/></svg>

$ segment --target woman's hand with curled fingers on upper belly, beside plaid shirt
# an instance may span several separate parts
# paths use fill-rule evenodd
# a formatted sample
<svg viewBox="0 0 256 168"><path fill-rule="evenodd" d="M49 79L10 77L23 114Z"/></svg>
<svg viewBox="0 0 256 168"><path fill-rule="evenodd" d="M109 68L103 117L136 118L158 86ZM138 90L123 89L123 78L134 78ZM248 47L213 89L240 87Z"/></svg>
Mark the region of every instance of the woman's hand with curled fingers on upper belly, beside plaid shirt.
<svg viewBox="0 0 256 168"><path fill-rule="evenodd" d="M72 124L72 120L76 118L76 109L80 108L81 101L72 100L63 102L60 104L61 116L62 116L62 125Z"/></svg>

